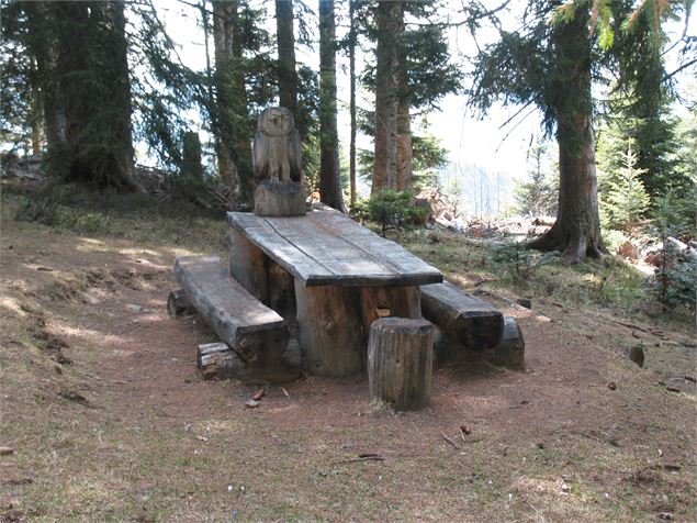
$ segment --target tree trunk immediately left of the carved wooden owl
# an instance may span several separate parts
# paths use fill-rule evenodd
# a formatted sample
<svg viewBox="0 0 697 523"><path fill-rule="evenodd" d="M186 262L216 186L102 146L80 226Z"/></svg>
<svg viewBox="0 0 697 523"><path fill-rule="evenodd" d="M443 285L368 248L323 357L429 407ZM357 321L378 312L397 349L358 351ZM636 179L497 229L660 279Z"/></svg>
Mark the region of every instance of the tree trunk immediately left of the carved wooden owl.
<svg viewBox="0 0 697 523"><path fill-rule="evenodd" d="M218 174L251 202L251 132L243 70L243 37L237 1L213 1L213 42L217 94L215 130Z"/></svg>

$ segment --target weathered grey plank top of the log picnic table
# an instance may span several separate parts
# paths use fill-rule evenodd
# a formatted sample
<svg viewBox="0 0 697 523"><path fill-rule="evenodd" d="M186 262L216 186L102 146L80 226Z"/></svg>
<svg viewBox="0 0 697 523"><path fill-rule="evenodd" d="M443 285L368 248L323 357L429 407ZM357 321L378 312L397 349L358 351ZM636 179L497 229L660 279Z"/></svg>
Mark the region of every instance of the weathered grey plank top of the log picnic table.
<svg viewBox="0 0 697 523"><path fill-rule="evenodd" d="M306 286L420 286L442 275L401 245L336 211L304 216L228 212L228 223Z"/></svg>

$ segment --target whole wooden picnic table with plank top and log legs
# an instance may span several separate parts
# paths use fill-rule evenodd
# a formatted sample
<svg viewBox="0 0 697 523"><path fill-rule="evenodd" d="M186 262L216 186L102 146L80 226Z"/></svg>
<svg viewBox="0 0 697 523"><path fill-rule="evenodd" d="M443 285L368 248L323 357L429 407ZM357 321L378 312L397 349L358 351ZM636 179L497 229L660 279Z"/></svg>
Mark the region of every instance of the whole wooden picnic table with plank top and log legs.
<svg viewBox="0 0 697 523"><path fill-rule="evenodd" d="M421 318L419 286L443 279L401 245L336 211L227 216L231 274L265 304L295 315L313 374L360 371L371 323L382 315Z"/></svg>

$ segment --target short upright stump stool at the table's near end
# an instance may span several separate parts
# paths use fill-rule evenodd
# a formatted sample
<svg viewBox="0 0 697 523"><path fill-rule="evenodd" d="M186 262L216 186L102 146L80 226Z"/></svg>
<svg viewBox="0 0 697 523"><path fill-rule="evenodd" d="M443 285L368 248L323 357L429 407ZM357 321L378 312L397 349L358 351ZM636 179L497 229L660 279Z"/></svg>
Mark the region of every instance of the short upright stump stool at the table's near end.
<svg viewBox="0 0 697 523"><path fill-rule="evenodd" d="M370 327L370 399L396 410L416 410L430 400L434 325L427 320L384 318Z"/></svg>

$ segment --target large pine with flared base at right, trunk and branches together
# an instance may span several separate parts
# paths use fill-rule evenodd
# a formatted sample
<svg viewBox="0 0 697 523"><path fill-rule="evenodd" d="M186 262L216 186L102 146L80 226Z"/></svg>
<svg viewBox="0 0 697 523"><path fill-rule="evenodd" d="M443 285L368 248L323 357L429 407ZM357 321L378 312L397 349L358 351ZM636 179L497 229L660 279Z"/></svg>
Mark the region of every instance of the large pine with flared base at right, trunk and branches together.
<svg viewBox="0 0 697 523"><path fill-rule="evenodd" d="M633 11L632 2L612 2L611 7L615 13L604 0L531 0L522 29L499 31L499 41L482 49L475 62L473 107L484 112L496 100L536 105L543 113L547 131L555 134L560 155L557 222L530 247L562 251L567 264L598 257L605 251L597 201L592 85L602 66L612 66L620 52L630 52L630 44L614 43L614 35ZM657 4L642 2L641 9L652 7ZM657 16L661 9L654 11ZM494 14L473 13L475 27L476 16ZM620 75L620 85L625 81L631 79Z"/></svg>

